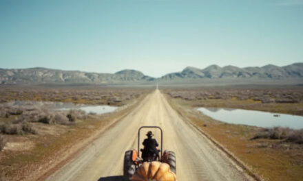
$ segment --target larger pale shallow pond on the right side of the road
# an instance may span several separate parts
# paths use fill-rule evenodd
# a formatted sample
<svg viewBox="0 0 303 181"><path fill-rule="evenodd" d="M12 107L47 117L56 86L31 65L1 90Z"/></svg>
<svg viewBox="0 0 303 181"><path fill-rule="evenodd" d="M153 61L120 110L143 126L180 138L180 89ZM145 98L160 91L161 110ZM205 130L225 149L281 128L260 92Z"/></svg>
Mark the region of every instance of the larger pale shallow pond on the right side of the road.
<svg viewBox="0 0 303 181"><path fill-rule="evenodd" d="M198 110L213 119L226 123L254 125L262 128L273 126L303 128L303 117L291 114L229 108L198 108Z"/></svg>

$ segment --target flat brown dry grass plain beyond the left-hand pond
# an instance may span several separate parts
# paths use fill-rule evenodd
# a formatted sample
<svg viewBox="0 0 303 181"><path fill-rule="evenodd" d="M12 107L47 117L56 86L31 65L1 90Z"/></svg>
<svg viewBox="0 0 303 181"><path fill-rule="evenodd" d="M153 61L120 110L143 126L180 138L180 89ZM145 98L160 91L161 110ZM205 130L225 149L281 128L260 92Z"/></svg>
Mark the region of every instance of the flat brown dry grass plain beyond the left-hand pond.
<svg viewBox="0 0 303 181"><path fill-rule="evenodd" d="M65 101L76 104L105 104L123 106L129 100L151 90L143 88L1 86L0 103L22 101Z"/></svg>

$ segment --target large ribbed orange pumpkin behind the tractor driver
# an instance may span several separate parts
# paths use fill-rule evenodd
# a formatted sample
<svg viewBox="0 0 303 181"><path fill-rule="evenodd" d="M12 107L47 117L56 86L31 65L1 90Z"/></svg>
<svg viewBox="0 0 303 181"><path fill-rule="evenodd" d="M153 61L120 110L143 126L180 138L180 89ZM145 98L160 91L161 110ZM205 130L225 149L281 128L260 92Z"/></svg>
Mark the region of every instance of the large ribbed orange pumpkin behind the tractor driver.
<svg viewBox="0 0 303 181"><path fill-rule="evenodd" d="M177 181L176 174L169 169L165 162L143 162L134 176L132 181Z"/></svg>

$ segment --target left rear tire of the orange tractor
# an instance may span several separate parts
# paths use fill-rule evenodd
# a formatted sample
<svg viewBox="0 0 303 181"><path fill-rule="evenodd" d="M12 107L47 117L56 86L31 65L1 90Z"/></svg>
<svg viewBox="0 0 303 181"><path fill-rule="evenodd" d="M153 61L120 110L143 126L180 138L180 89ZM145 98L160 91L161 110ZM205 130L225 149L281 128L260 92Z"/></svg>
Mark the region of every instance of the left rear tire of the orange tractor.
<svg viewBox="0 0 303 181"><path fill-rule="evenodd" d="M132 150L128 150L124 154L123 176L125 181L132 180L132 176L136 172L136 165L132 160Z"/></svg>

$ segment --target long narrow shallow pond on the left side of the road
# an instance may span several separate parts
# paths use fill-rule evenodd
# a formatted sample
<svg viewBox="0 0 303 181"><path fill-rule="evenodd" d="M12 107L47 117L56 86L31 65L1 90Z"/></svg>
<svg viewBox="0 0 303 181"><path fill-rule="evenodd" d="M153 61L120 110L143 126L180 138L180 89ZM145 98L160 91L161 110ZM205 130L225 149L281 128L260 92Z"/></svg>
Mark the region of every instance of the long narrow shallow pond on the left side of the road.
<svg viewBox="0 0 303 181"><path fill-rule="evenodd" d="M87 104L74 104L70 102L52 102L52 101L12 101L3 104L4 106L26 107L26 108L47 108L52 110L84 110L86 113L105 114L113 112L117 109L115 106L107 105L87 105Z"/></svg>

